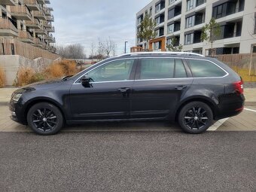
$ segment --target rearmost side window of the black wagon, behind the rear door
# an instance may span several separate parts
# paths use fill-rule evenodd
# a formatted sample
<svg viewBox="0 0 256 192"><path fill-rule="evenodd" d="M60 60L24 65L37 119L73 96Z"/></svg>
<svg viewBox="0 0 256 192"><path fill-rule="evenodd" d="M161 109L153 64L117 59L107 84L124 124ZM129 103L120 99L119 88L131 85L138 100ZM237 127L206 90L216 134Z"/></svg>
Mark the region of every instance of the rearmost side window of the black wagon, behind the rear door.
<svg viewBox="0 0 256 192"><path fill-rule="evenodd" d="M206 60L190 59L189 65L194 78L216 78L226 75L221 68Z"/></svg>

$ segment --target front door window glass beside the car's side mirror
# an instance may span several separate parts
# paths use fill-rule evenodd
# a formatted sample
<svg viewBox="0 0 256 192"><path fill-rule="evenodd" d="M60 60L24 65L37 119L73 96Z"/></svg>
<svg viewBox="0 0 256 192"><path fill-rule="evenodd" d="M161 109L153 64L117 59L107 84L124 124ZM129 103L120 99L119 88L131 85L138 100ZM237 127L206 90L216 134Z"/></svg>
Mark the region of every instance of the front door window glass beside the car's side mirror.
<svg viewBox="0 0 256 192"><path fill-rule="evenodd" d="M103 66L99 66L87 75L94 82L100 81L126 81L130 78L130 72L133 69L134 59L118 60L108 62Z"/></svg>

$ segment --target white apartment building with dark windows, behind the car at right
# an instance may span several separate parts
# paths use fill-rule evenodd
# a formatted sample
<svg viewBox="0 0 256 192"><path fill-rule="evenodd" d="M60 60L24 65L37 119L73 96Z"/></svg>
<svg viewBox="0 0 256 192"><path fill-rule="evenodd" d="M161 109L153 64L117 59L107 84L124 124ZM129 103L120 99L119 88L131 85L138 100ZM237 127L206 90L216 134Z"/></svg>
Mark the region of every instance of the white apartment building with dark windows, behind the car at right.
<svg viewBox="0 0 256 192"><path fill-rule="evenodd" d="M136 14L136 34L145 14L157 23L157 38L149 42L150 50L166 50L175 37L183 51L205 54L211 44L200 37L212 17L221 26L213 44L216 54L250 53L251 44L256 44L255 0L154 0ZM137 37L136 41L137 49L145 48L145 41Z"/></svg>

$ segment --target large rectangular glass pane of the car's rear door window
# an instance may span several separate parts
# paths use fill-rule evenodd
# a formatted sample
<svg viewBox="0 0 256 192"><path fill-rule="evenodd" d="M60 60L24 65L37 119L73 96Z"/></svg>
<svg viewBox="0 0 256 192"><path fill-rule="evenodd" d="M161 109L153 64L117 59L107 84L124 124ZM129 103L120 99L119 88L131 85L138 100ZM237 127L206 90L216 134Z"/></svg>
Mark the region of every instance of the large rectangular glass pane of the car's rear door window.
<svg viewBox="0 0 256 192"><path fill-rule="evenodd" d="M173 78L174 59L142 59L141 79Z"/></svg>

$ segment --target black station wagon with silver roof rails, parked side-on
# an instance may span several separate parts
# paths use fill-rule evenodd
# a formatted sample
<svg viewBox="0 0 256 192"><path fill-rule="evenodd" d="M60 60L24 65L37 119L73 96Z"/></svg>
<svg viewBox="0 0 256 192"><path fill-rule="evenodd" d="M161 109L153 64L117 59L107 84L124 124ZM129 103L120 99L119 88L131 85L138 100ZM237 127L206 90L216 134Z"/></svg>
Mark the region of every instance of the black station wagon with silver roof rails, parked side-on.
<svg viewBox="0 0 256 192"><path fill-rule="evenodd" d="M65 123L177 121L203 133L213 120L239 114L242 79L218 59L196 53L128 53L72 77L31 84L11 96L11 119L52 135Z"/></svg>

